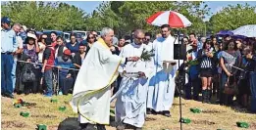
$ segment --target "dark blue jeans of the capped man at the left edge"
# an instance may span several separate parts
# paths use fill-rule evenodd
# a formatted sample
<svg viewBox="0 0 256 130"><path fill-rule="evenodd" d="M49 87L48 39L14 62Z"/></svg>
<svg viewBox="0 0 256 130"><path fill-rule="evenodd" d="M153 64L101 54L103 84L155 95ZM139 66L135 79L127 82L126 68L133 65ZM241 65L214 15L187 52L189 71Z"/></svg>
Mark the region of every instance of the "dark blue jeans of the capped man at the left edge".
<svg viewBox="0 0 256 130"><path fill-rule="evenodd" d="M1 54L1 89L2 94L13 94L12 69L13 55Z"/></svg>

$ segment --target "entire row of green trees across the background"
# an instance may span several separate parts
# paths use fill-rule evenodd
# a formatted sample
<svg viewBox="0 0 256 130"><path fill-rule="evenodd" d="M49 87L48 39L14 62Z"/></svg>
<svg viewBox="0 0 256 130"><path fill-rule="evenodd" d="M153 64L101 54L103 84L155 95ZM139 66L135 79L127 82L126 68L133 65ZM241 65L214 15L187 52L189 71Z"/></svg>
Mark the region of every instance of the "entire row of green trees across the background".
<svg viewBox="0 0 256 130"><path fill-rule="evenodd" d="M181 29L184 33L205 34L256 22L256 7L248 4L228 6L213 15L209 22L203 22L210 15L210 8L202 1L108 1L102 2L91 14L63 2L14 1L4 2L1 7L2 16L37 30L100 30L109 26L120 35L135 28L158 31L156 26L146 23L146 19L159 11L169 10L179 12L192 22L190 27Z"/></svg>

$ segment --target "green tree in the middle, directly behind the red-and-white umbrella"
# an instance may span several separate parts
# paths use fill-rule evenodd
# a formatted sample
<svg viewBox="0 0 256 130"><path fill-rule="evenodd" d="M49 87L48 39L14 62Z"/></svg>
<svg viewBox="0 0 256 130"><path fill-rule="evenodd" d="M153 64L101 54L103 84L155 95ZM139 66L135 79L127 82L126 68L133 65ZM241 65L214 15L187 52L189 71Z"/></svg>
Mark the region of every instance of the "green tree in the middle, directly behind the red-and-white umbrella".
<svg viewBox="0 0 256 130"><path fill-rule="evenodd" d="M193 23L188 30L196 30L196 32L202 30L203 17L209 13L209 8L204 2L113 1L102 3L95 11L98 15L91 17L89 21L102 20L103 22L98 23L99 26L113 27L122 35L128 34L135 28L156 32L159 29L146 23L146 19L156 12L168 10L177 11L187 17Z"/></svg>

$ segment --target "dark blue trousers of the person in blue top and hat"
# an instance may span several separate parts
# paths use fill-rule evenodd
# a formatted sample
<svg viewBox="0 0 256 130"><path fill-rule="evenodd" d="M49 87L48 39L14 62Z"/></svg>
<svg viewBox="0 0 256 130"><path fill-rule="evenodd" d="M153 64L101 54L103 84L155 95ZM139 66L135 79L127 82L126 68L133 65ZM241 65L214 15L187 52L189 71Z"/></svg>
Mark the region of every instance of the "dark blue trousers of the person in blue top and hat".
<svg viewBox="0 0 256 130"><path fill-rule="evenodd" d="M64 95L68 95L69 90L73 87L73 77L66 78L66 75L60 74L59 83L60 90Z"/></svg>

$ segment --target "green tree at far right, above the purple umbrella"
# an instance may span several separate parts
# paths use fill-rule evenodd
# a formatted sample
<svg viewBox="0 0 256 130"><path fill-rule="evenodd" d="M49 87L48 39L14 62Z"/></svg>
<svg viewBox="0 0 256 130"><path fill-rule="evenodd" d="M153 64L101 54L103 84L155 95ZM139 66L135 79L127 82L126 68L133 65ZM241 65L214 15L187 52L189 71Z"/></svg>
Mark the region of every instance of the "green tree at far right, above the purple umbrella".
<svg viewBox="0 0 256 130"><path fill-rule="evenodd" d="M252 7L247 3L245 5L229 5L210 18L209 24L212 26L210 29L214 32L218 32L224 29L233 30L245 24L255 24L255 10L256 6Z"/></svg>

